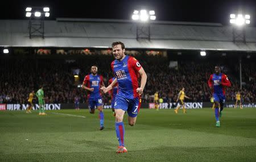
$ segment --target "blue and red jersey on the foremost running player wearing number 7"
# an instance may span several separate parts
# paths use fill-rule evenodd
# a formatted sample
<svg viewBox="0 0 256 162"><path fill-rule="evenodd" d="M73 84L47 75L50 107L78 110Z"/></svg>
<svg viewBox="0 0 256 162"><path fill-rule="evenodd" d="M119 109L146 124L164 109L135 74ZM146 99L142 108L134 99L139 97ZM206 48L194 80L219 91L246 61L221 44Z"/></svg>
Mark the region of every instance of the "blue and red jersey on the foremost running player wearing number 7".
<svg viewBox="0 0 256 162"><path fill-rule="evenodd" d="M131 56L125 56L125 59L121 61L114 60L111 68L118 82L117 96L127 99L138 97L136 90L138 88L138 72L141 69L138 60Z"/></svg>

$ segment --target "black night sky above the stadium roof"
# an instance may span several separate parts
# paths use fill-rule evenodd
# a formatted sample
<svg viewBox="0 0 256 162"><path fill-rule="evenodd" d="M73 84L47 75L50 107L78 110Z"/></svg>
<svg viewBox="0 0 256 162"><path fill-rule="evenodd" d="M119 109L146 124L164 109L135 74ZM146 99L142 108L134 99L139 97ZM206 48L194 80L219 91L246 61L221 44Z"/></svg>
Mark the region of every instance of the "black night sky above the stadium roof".
<svg viewBox="0 0 256 162"><path fill-rule="evenodd" d="M64 2L68 1L68 2ZM256 1L1 1L0 19L26 19L26 6L49 6L50 18L131 19L134 9L155 10L157 20L229 24L229 14L243 11L255 26ZM254 18L254 19L253 19Z"/></svg>

